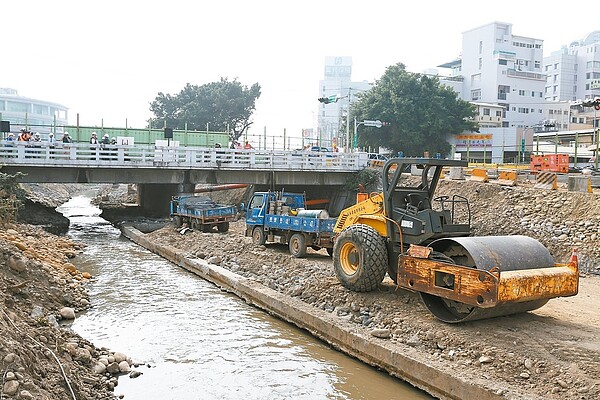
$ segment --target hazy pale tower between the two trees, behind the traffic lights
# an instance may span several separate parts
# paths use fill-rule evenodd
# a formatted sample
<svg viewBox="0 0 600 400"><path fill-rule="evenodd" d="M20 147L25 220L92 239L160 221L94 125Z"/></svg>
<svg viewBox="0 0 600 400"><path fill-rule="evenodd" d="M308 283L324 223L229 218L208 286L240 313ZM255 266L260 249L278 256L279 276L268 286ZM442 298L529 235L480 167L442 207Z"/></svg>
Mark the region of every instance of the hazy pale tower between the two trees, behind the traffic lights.
<svg viewBox="0 0 600 400"><path fill-rule="evenodd" d="M336 100L319 103L318 132L312 138L314 144L319 142L325 147L334 144L346 147L348 131L343 126L347 122L349 105L354 102L357 93L370 88L371 84L367 81L352 82L352 57L325 57L324 78L319 81L319 97Z"/></svg>

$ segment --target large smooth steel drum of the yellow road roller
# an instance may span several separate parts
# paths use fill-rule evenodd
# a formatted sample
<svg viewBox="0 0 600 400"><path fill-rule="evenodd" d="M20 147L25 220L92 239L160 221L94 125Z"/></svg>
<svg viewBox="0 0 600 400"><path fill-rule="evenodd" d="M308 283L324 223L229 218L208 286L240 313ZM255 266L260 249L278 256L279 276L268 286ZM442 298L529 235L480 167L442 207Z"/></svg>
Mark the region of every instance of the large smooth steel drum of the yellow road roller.
<svg viewBox="0 0 600 400"><path fill-rule="evenodd" d="M527 236L481 236L445 238L429 245L437 253L443 254L440 261L486 270L497 267L504 271L552 268L554 260L550 252L537 240ZM450 261L448 258L452 261ZM480 308L444 299L427 293L420 293L429 311L438 319L457 323L477 319L492 318L535 310L548 302L548 298L501 303L492 308Z"/></svg>

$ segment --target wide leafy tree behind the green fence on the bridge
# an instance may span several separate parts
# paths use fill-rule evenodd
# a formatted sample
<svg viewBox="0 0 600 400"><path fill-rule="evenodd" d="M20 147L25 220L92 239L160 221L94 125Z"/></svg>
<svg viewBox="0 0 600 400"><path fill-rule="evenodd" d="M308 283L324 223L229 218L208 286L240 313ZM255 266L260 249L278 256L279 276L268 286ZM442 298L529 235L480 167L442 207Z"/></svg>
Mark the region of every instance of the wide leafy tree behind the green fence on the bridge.
<svg viewBox="0 0 600 400"><path fill-rule="evenodd" d="M176 95L158 93L150 103L154 114L148 122L152 126L166 124L173 129L213 131L229 130L232 141L238 140L252 124L250 117L260 97L260 85L250 88L234 79L221 78L205 85L187 84Z"/></svg>

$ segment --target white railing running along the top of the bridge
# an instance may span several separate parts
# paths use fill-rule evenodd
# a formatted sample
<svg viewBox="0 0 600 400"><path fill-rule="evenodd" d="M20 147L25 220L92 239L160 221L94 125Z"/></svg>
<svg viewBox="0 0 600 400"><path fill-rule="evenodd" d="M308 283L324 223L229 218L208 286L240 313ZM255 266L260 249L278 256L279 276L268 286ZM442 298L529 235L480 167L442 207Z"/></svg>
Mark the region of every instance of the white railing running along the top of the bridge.
<svg viewBox="0 0 600 400"><path fill-rule="evenodd" d="M0 164L54 167L359 171L369 154L0 141Z"/></svg>

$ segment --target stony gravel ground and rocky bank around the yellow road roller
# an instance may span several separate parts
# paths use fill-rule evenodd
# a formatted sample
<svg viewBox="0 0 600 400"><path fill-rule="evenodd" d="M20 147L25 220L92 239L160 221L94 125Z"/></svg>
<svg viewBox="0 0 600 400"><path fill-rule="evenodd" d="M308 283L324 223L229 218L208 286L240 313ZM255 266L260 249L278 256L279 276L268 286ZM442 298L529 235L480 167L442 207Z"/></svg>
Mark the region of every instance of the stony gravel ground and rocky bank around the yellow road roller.
<svg viewBox="0 0 600 400"><path fill-rule="evenodd" d="M377 332L374 340L384 337L507 399L600 398L597 194L443 181L438 195L457 191L471 202L475 235L528 235L557 262L567 262L577 248L579 294L528 313L449 325L433 317L418 294L398 289L389 278L371 293L347 290L325 250L309 249L297 259L287 246L253 245L243 219L227 233L181 234L168 226L149 236L352 321L356 329Z"/></svg>

